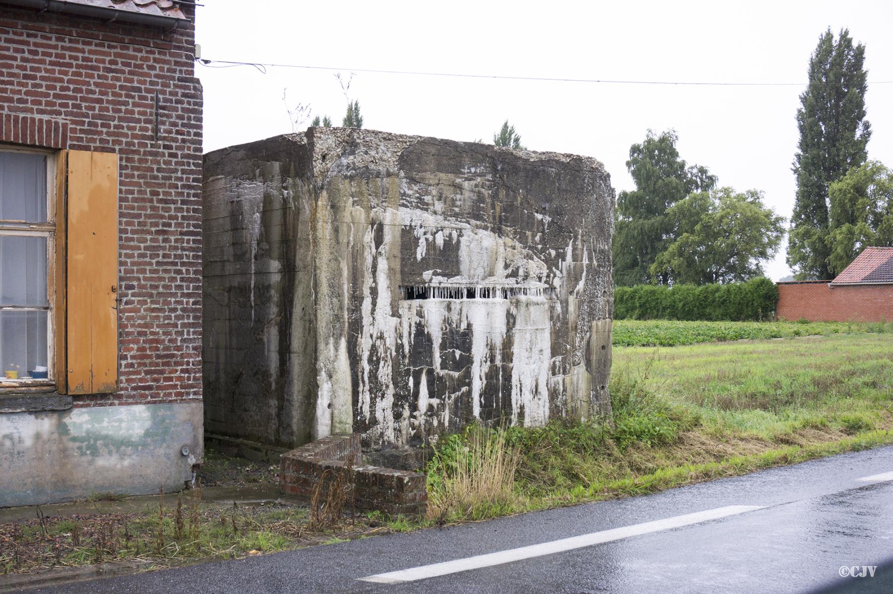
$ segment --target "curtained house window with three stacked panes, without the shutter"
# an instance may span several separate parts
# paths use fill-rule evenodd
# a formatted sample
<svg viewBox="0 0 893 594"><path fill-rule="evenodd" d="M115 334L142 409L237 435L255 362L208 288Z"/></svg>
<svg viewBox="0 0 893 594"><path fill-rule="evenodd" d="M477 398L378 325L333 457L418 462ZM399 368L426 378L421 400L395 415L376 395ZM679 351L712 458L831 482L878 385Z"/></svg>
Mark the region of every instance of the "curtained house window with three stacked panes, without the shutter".
<svg viewBox="0 0 893 594"><path fill-rule="evenodd" d="M0 386L51 384L55 163L0 147Z"/></svg>

